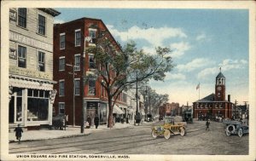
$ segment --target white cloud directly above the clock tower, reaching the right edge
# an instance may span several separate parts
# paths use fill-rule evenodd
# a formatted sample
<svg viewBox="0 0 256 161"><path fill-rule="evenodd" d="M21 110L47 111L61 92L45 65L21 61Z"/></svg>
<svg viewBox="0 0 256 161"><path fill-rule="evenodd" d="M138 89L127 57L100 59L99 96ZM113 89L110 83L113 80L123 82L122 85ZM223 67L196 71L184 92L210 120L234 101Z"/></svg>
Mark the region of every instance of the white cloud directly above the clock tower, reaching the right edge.
<svg viewBox="0 0 256 161"><path fill-rule="evenodd" d="M222 71L230 71L233 69L241 69L244 68L245 65L247 64L247 60L223 60L222 63L218 64L216 67L212 68L206 68L202 70L201 72L198 73L197 78L207 78L207 76L216 74L219 70L219 66L221 66Z"/></svg>

